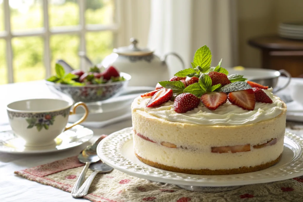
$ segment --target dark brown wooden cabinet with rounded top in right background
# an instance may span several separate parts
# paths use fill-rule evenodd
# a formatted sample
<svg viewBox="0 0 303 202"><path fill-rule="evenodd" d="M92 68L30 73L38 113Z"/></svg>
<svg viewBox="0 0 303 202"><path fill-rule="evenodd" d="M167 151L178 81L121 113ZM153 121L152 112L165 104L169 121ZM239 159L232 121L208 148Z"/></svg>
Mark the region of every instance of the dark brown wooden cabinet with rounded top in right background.
<svg viewBox="0 0 303 202"><path fill-rule="evenodd" d="M248 44L261 49L262 68L285 69L292 77L303 77L303 40L263 36L250 39Z"/></svg>

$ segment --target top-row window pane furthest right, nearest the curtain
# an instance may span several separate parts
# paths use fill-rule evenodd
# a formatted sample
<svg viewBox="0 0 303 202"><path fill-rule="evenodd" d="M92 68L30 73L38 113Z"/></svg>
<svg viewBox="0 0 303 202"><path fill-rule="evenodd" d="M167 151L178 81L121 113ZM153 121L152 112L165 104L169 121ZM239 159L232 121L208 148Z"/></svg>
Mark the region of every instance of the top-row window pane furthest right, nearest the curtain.
<svg viewBox="0 0 303 202"><path fill-rule="evenodd" d="M109 25L114 23L114 0L90 0L86 2L86 24Z"/></svg>

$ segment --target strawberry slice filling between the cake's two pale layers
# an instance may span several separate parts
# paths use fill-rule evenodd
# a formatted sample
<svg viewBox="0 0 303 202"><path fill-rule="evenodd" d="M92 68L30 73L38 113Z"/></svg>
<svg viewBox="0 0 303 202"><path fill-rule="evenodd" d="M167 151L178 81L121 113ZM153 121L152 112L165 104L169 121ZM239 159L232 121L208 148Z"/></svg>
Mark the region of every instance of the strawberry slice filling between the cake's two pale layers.
<svg viewBox="0 0 303 202"><path fill-rule="evenodd" d="M139 137L141 137L144 140L147 140L147 141L150 141L150 142L153 142L153 143L157 143L155 141L152 141L148 137L145 137L144 135L142 135L140 133L137 133L135 130L134 130L134 132L135 132L135 134L137 134ZM274 145L274 144L277 143L277 141L278 141L277 138L272 138L271 140L267 141L266 143L253 145L252 147L254 149L259 149L259 148L262 148L262 147ZM183 146L177 147L177 145L175 145L175 144L172 144L172 143L169 143L169 142L164 142L164 141L162 141L160 144L162 146L169 147L169 148L187 149L187 147L183 147ZM211 147L211 152L212 153L220 153L220 154L221 153L229 153L229 152L231 152L231 153L246 152L246 151L251 151L250 148L251 148L250 144L235 145L235 146Z"/></svg>

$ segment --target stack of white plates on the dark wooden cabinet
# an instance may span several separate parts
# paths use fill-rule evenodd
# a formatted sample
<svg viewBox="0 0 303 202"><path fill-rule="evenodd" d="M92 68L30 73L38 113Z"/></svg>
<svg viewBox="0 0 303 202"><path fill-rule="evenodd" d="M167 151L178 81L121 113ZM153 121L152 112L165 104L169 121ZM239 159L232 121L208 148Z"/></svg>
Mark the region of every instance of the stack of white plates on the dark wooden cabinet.
<svg viewBox="0 0 303 202"><path fill-rule="evenodd" d="M303 22L281 23L279 25L279 36L303 40Z"/></svg>

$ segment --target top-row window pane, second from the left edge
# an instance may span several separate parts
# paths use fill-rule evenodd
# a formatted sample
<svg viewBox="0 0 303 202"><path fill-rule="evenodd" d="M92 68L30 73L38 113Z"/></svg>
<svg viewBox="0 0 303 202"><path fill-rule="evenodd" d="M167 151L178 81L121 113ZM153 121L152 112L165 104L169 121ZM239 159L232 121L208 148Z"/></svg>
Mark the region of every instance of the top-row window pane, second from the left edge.
<svg viewBox="0 0 303 202"><path fill-rule="evenodd" d="M43 27L42 0L10 0L12 30Z"/></svg>

